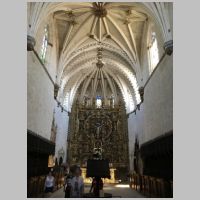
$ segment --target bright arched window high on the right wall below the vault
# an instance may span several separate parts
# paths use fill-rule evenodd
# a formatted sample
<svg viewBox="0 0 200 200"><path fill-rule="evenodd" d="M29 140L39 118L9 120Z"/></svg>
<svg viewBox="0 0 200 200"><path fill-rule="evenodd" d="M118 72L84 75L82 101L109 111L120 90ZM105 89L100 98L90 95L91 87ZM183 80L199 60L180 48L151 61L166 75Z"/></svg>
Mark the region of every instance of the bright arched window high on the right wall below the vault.
<svg viewBox="0 0 200 200"><path fill-rule="evenodd" d="M150 73L151 73L159 62L158 42L156 39L155 32L151 32L151 38L149 44L149 61L150 61Z"/></svg>

